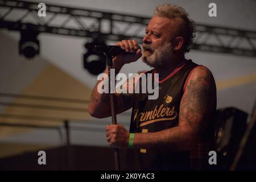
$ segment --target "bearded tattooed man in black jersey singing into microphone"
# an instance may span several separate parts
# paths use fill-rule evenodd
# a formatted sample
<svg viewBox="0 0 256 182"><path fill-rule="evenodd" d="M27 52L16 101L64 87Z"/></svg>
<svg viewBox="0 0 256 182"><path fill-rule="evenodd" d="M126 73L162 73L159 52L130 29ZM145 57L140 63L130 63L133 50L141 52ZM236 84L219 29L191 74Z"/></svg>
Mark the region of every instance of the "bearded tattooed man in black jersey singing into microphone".
<svg viewBox="0 0 256 182"><path fill-rule="evenodd" d="M135 40L115 44L133 53L114 57L115 73L142 57L154 68L146 73L159 75L154 78L159 83L156 100L148 100L147 94L115 93L117 114L133 107L130 131L122 125L106 126L110 146L133 148L135 155L127 158L130 164L137 160L130 165L134 169L191 169L195 164L207 169L208 152L214 146L216 84L208 68L184 57L194 37L194 22L185 10L164 4L156 7L148 23L142 50ZM105 118L111 115L110 101L108 93L97 92L100 82L94 87L89 113Z"/></svg>

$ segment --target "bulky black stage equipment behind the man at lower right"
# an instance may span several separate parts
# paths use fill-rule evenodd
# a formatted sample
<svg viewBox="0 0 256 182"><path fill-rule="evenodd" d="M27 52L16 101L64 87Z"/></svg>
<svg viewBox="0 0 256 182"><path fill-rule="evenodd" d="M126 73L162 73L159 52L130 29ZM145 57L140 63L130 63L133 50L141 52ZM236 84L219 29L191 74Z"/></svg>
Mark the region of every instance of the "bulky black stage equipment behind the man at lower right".
<svg viewBox="0 0 256 182"><path fill-rule="evenodd" d="M247 113L234 107L218 109L216 112L217 169L228 170L237 154L247 126ZM242 162L246 165L246 162Z"/></svg>

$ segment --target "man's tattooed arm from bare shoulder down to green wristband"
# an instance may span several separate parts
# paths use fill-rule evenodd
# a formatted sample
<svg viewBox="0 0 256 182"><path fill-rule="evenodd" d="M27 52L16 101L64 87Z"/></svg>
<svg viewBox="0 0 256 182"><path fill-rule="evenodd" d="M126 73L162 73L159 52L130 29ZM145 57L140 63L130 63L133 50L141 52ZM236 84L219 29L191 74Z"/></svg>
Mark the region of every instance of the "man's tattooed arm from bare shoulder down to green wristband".
<svg viewBox="0 0 256 182"><path fill-rule="evenodd" d="M136 133L134 148L168 147L172 151L190 150L209 125L210 113L214 109L216 85L212 73L206 67L197 67L192 72L181 99L179 125L156 133ZM123 135L126 136L127 144L129 135ZM119 145L115 140L110 143L113 146Z"/></svg>

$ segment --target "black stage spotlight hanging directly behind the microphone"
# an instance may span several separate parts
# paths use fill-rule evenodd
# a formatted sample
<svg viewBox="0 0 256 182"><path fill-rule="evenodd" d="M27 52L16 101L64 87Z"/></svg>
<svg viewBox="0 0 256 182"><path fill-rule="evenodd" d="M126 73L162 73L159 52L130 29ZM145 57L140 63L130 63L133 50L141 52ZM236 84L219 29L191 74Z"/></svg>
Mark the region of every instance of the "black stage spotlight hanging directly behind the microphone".
<svg viewBox="0 0 256 182"><path fill-rule="evenodd" d="M106 56L103 53L93 52L94 45L105 44L102 41L94 40L90 43L85 43L87 52L84 54L84 68L92 75L98 75L106 69Z"/></svg>

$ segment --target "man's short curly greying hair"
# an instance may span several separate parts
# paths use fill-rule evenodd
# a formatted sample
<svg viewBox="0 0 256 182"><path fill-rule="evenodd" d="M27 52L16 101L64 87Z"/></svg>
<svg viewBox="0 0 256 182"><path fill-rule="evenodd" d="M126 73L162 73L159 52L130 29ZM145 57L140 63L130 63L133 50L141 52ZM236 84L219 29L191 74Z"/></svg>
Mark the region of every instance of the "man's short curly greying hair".
<svg viewBox="0 0 256 182"><path fill-rule="evenodd" d="M188 13L180 6L164 3L155 8L154 15L170 19L183 19L185 30L181 30L184 38L184 52L189 52L190 46L195 38L195 22L189 18Z"/></svg>

